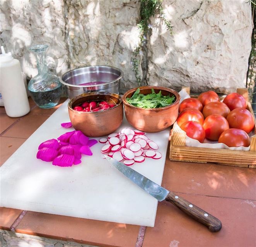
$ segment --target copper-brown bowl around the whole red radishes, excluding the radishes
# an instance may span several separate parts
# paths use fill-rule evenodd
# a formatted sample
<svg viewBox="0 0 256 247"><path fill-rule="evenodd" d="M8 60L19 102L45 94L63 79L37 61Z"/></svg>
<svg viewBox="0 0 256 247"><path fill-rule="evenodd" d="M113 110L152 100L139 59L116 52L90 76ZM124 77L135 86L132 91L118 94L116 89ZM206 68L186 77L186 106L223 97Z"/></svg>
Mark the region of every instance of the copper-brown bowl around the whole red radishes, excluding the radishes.
<svg viewBox="0 0 256 247"><path fill-rule="evenodd" d="M100 112L79 112L73 110L85 101L107 101L116 106ZM109 135L121 125L123 121L123 103L118 94L105 92L83 93L74 97L68 103L68 114L75 130L81 130L88 137Z"/></svg>

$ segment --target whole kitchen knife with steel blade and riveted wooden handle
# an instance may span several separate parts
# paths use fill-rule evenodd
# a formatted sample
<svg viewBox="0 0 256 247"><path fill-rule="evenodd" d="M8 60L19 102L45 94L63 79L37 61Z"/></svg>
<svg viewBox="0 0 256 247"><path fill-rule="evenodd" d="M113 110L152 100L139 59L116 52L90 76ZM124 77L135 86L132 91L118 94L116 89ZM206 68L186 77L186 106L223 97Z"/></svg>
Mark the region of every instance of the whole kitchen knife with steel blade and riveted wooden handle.
<svg viewBox="0 0 256 247"><path fill-rule="evenodd" d="M198 208L196 205L190 203L184 198L175 195L175 193L172 191L169 191L154 183L142 174L131 169L129 166L126 166L125 164L109 156L105 155L105 157L111 165L118 169L118 171L123 173L127 178L133 181L133 183L137 184L140 188L146 191L149 195L156 198L158 201L166 200L171 202L190 217L206 225L211 232L218 232L221 229L222 225L220 220L210 215L210 213L207 213L201 208Z"/></svg>

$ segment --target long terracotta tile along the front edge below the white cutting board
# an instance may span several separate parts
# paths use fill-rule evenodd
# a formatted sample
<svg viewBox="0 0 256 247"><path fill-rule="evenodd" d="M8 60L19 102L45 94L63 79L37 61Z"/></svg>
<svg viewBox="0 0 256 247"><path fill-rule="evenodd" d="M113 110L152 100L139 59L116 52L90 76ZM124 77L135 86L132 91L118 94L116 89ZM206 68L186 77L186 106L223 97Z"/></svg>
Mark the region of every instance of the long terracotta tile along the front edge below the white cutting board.
<svg viewBox="0 0 256 247"><path fill-rule="evenodd" d="M27 212L16 232L100 246L135 246L139 226Z"/></svg>

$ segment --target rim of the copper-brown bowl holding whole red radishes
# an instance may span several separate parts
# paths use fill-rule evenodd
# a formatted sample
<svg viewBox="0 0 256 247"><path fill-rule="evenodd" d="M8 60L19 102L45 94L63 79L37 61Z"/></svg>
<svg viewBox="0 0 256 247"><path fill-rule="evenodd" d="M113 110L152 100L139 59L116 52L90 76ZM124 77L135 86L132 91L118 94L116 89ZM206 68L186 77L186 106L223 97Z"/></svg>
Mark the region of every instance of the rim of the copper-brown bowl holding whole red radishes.
<svg viewBox="0 0 256 247"><path fill-rule="evenodd" d="M112 109L118 107L119 105L121 105L121 104L123 103L121 96L118 95L118 94L116 94L116 93L107 93L107 92L102 92L102 91L88 92L88 93L82 93L82 94L77 95L77 96L75 96L74 98L72 98L72 99L68 102L68 110L70 110L70 111L72 111L72 112L75 112L75 113L79 113L79 114L84 114L84 113L86 113L86 114L95 114L95 113L98 113L98 114L99 114L99 113L101 113L101 112L82 112L82 111L79 112L79 111L74 110L74 109L71 107L72 104L73 104L76 100L78 100L78 99L80 99L80 98L83 98L83 97L85 97L85 96L90 96L90 95L109 95L109 96L115 95L115 96L118 96L119 103L118 103L117 105L115 105L115 106L112 107L112 108L109 108L109 109L106 109L106 110L104 110L104 111L101 111L101 112L107 112L107 111L109 111L109 110L112 110Z"/></svg>

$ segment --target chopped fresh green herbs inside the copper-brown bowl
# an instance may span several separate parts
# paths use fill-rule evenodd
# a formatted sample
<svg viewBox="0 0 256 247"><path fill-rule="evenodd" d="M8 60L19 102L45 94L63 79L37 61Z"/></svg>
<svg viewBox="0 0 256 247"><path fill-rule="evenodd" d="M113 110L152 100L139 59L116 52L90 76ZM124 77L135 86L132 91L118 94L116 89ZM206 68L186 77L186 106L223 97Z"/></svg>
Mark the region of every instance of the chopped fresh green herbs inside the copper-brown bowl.
<svg viewBox="0 0 256 247"><path fill-rule="evenodd" d="M154 89L152 89L152 93L143 95L140 93L140 88L138 88L131 98L126 98L126 101L135 107L160 108L171 105L175 101L175 96L163 96L161 91L155 93Z"/></svg>

